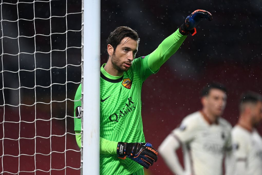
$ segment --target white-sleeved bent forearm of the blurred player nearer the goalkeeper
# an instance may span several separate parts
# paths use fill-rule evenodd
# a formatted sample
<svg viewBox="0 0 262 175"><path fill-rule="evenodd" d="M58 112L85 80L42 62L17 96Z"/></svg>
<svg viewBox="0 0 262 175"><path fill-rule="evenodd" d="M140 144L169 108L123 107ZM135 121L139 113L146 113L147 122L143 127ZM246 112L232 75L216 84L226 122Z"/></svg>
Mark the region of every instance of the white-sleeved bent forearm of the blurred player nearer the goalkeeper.
<svg viewBox="0 0 262 175"><path fill-rule="evenodd" d="M180 147L180 143L171 134L159 146L159 153L165 160L167 166L171 171L177 175L185 174L183 167L181 166L176 150Z"/></svg>

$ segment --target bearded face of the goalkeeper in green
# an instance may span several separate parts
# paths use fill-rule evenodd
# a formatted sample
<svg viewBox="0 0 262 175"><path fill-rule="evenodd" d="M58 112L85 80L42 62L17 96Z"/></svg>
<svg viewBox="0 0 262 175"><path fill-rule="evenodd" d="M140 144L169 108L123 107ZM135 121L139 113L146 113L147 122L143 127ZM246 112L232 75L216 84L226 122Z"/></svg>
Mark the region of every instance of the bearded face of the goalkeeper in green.
<svg viewBox="0 0 262 175"><path fill-rule="evenodd" d="M138 42L129 37L125 37L116 47L116 50L113 51L113 54L110 55L109 61L112 62L116 70L121 72L128 71L135 59L137 51Z"/></svg>

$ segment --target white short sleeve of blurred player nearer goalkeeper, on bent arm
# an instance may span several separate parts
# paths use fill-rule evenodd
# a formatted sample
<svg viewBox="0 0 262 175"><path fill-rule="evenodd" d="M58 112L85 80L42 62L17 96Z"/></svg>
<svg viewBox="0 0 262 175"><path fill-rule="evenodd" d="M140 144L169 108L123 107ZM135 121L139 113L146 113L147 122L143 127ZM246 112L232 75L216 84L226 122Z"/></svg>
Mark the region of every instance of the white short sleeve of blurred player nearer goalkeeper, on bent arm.
<svg viewBox="0 0 262 175"><path fill-rule="evenodd" d="M174 129L171 134L182 143L188 143L195 137L194 121L190 118L185 118L180 126Z"/></svg>

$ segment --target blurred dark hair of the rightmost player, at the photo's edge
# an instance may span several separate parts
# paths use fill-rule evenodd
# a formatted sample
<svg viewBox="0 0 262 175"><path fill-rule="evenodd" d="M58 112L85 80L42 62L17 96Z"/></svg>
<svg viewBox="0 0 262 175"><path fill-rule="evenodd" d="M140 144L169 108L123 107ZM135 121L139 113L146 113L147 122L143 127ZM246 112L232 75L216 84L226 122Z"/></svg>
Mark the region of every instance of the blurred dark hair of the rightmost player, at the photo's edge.
<svg viewBox="0 0 262 175"><path fill-rule="evenodd" d="M241 110L243 104L246 103L256 104L258 101L262 102L261 94L253 91L244 92L239 99L239 109Z"/></svg>

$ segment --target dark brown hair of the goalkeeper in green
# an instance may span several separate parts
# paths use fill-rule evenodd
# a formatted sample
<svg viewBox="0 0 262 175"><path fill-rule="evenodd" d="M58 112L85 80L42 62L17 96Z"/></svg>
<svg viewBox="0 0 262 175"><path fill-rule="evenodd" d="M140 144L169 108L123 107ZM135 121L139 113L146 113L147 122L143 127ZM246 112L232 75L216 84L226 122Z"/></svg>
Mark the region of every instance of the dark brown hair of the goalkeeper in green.
<svg viewBox="0 0 262 175"><path fill-rule="evenodd" d="M116 47L120 44L123 38L130 37L131 39L137 41L139 43L140 39L135 30L131 29L127 26L117 27L114 31L110 33L108 36L106 43L110 44L114 48L114 52L116 51ZM109 57L109 55L108 55Z"/></svg>

